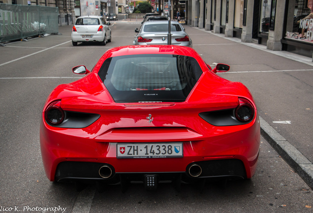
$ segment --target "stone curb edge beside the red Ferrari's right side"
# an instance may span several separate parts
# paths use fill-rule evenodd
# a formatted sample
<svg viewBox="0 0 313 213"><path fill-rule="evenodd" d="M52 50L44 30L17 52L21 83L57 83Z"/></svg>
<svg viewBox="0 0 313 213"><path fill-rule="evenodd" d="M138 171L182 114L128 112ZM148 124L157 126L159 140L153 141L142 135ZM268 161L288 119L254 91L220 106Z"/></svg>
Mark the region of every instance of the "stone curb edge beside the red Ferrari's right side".
<svg viewBox="0 0 313 213"><path fill-rule="evenodd" d="M289 166L313 189L313 163L282 137L260 117L261 135L289 164Z"/></svg>

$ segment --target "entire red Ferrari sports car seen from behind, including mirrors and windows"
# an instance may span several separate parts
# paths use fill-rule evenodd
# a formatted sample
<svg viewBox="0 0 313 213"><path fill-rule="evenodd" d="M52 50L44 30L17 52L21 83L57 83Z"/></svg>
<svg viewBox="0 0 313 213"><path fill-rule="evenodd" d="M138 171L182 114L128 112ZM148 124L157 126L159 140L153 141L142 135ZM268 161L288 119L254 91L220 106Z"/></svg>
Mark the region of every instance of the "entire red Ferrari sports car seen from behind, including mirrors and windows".
<svg viewBox="0 0 313 213"><path fill-rule="evenodd" d="M82 61L84 58L82 58ZM87 61L86 61L87 62ZM40 124L51 181L99 185L252 178L260 123L249 90L192 48L121 46L49 95Z"/></svg>

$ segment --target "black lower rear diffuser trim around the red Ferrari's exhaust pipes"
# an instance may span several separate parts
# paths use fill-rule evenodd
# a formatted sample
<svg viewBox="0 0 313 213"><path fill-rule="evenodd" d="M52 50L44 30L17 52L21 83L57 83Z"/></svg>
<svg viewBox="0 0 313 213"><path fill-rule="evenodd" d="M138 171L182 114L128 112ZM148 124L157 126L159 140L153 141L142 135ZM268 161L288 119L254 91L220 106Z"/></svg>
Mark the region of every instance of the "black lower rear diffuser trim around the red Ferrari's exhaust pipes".
<svg viewBox="0 0 313 213"><path fill-rule="evenodd" d="M194 177L191 166L198 165L201 168L201 173ZM110 167L112 171L108 177L101 177L101 167ZM190 174L191 173L191 174ZM139 172L139 173L116 173L114 167L109 164L95 162L62 162L56 170L55 181L71 181L71 180L94 180L109 184L121 182L122 178L127 178L129 181L143 181L146 175L154 174L159 181L173 180L181 176L184 182L193 182L201 178L231 178L244 179L247 178L246 170L243 162L238 159L223 159L223 160L207 160L192 162L183 172Z"/></svg>

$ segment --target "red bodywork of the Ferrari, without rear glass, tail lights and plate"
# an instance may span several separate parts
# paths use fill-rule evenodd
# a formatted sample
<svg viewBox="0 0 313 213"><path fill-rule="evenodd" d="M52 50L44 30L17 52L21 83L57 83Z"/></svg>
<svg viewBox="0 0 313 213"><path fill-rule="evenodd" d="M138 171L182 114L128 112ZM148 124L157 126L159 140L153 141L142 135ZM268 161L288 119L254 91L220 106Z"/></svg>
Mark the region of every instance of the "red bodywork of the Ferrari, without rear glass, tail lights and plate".
<svg viewBox="0 0 313 213"><path fill-rule="evenodd" d="M202 73L186 100L120 103L114 100L99 76L104 62L109 58L146 54L181 55L196 60ZM256 106L242 83L223 79L215 72L216 69L208 66L195 50L188 47L148 45L108 50L91 72L87 70L83 78L59 85L45 103L40 145L47 177L51 181L91 179L107 183L117 183L124 177L143 180L147 174L155 175L157 181L177 179L178 176L185 181L251 178L256 170L260 144ZM235 125L227 123L229 119L235 119L233 112L243 102L252 109L250 120L236 121ZM60 125L60 122L49 124L47 111L51 107L61 108L69 114L68 117L74 115L73 122L62 126L65 121L69 122L66 115ZM77 123L81 119L88 126L79 126ZM91 121L86 121L89 119ZM212 119L214 125L211 124ZM224 124L219 124L223 119ZM161 144L168 142L182 144L183 156L117 157L118 152L125 152L123 143L153 143L155 146L160 144L160 148ZM170 148L168 152L174 150L172 146L167 148ZM175 148L180 149L179 146ZM135 155L135 151L128 150L128 154Z"/></svg>

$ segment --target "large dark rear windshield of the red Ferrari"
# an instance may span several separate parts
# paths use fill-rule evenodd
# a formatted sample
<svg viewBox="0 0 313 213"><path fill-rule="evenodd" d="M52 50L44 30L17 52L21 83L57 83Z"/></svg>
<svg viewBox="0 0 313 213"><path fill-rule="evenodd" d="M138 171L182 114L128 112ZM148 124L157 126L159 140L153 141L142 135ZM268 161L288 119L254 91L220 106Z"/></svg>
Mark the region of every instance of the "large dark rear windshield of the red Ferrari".
<svg viewBox="0 0 313 213"><path fill-rule="evenodd" d="M192 57L146 54L109 58L98 74L117 103L183 102L202 70Z"/></svg>

